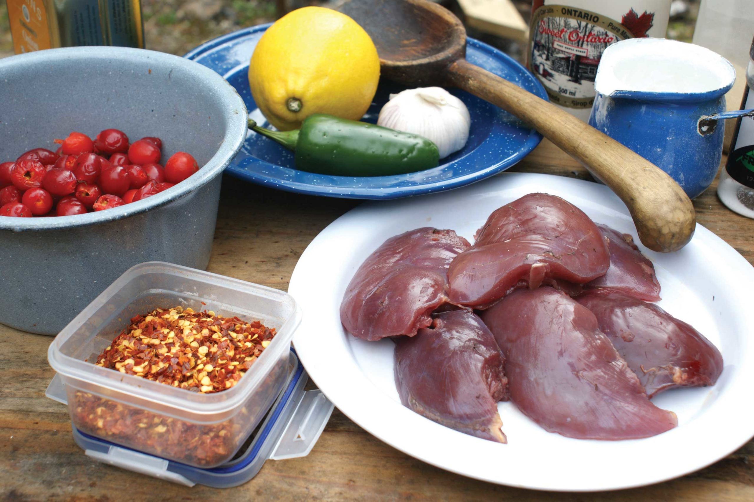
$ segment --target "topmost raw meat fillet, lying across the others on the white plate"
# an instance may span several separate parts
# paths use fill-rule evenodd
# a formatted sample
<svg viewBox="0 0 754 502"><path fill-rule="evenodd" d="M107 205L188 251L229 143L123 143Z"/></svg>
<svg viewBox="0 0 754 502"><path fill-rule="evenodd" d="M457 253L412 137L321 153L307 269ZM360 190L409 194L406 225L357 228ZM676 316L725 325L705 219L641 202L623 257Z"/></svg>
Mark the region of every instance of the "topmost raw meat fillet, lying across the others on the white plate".
<svg viewBox="0 0 754 502"><path fill-rule="evenodd" d="M489 308L516 287L587 283L609 266L605 237L587 215L560 197L528 194L495 210L453 260L449 298Z"/></svg>

